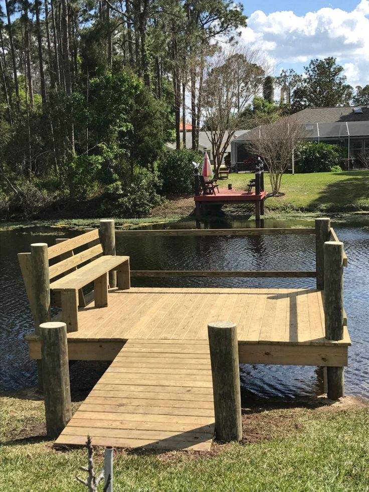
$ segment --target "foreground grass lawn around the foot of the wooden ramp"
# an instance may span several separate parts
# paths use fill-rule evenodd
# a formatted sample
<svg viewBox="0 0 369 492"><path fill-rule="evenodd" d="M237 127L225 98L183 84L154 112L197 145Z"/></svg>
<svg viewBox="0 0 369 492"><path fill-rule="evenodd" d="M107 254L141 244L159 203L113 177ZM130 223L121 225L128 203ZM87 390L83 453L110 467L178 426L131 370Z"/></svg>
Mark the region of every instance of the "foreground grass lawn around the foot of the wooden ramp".
<svg viewBox="0 0 369 492"><path fill-rule="evenodd" d="M78 404L74 404L75 409ZM85 449L52 449L44 406L34 390L3 396L2 490L78 491L74 476L87 465ZM114 491L351 491L369 490L369 406L345 398L279 402L244 410L241 444L209 454L117 451ZM102 452L95 455L96 470ZM102 489L102 487L101 487Z"/></svg>

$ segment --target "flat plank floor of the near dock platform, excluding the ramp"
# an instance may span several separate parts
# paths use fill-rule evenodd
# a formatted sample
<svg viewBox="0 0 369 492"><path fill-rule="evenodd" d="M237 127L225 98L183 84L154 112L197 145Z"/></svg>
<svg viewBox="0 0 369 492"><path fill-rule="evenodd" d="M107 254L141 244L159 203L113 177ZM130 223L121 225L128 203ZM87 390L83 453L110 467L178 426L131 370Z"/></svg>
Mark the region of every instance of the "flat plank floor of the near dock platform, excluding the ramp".
<svg viewBox="0 0 369 492"><path fill-rule="evenodd" d="M211 321L229 319L244 343L332 345L324 339L321 292L315 289L131 288L109 305L79 312L72 341L207 340ZM345 332L346 333L346 332ZM31 337L32 338L32 337ZM346 336L341 344L349 345Z"/></svg>

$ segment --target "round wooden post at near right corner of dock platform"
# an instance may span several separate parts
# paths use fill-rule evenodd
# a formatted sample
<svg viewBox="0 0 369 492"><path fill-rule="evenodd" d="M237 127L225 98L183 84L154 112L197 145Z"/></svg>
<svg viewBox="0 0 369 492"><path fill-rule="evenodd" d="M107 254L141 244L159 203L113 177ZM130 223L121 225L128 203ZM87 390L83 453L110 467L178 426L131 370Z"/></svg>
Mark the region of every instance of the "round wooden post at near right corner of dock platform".
<svg viewBox="0 0 369 492"><path fill-rule="evenodd" d="M325 338L343 338L343 243L324 243L324 318ZM327 367L327 396L337 400L344 396L344 368Z"/></svg>

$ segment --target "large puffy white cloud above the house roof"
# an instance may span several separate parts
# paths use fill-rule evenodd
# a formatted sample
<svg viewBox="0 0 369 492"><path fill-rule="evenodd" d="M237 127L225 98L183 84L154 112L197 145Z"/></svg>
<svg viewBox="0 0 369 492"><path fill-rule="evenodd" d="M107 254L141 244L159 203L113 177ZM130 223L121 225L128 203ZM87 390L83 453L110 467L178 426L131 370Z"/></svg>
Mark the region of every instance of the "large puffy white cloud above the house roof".
<svg viewBox="0 0 369 492"><path fill-rule="evenodd" d="M337 58L349 83L369 82L369 0L351 12L322 8L296 16L291 11L254 12L242 38L276 63L309 63L312 58Z"/></svg>

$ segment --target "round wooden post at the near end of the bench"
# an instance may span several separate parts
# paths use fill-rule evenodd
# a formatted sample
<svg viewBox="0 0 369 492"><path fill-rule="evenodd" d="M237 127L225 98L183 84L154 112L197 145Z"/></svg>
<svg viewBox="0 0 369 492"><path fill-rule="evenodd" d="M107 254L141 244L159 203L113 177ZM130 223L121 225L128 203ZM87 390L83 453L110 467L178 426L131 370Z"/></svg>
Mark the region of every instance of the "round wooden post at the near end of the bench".
<svg viewBox="0 0 369 492"><path fill-rule="evenodd" d="M39 335L41 323L50 321L50 279L48 245L46 243L31 244L32 283L34 291L35 333ZM41 361L37 361L37 385L44 389Z"/></svg>

